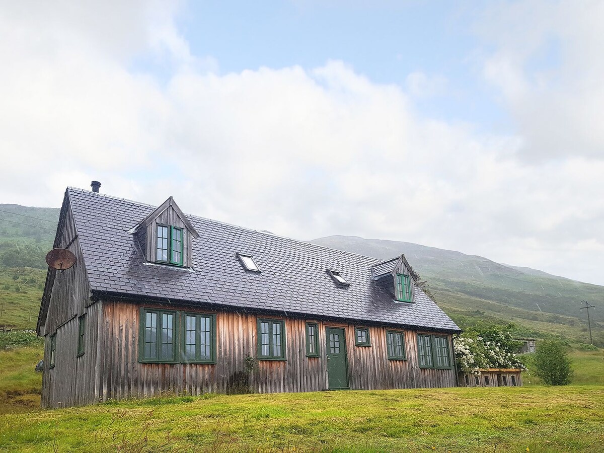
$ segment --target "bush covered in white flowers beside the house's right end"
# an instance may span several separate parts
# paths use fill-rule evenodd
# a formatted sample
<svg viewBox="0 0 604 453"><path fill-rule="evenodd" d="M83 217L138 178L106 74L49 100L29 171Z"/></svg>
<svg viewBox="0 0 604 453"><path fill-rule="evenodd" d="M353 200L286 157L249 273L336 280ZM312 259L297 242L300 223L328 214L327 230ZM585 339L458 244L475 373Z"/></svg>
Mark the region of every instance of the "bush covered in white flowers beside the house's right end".
<svg viewBox="0 0 604 453"><path fill-rule="evenodd" d="M480 368L520 368L525 365L516 356L522 343L512 338L512 334L498 327L490 327L486 332L472 332L455 338L454 352L457 367L464 373L480 374Z"/></svg>

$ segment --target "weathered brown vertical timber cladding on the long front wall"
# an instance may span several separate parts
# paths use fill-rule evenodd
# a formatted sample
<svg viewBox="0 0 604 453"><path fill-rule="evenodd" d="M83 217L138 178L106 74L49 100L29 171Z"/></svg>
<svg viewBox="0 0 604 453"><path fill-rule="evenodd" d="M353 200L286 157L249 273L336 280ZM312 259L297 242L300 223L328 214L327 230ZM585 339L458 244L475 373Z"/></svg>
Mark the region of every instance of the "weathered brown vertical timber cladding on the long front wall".
<svg viewBox="0 0 604 453"><path fill-rule="evenodd" d="M140 306L103 302L99 399L144 397L160 393L228 393L232 382L245 373L246 356L257 356L257 316L216 312L193 307L146 307L216 313L216 364L141 364L138 362ZM369 327L371 347L355 345L355 326L316 320L263 315L286 322L286 361L255 361L249 374L251 391L259 393L327 390L325 332L344 329L349 385L352 389L454 387L455 370L421 370L417 364L416 332L405 330L406 361L387 358L386 329ZM319 357L306 356L306 321L319 326Z"/></svg>

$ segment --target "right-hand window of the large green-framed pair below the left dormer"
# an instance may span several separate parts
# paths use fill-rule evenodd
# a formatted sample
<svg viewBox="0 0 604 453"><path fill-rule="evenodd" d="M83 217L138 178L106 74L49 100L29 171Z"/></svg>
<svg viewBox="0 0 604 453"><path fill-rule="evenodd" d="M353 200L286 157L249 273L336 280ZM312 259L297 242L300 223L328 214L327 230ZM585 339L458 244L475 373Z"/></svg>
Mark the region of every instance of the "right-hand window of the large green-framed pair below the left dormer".
<svg viewBox="0 0 604 453"><path fill-rule="evenodd" d="M181 313L181 361L216 363L216 315Z"/></svg>

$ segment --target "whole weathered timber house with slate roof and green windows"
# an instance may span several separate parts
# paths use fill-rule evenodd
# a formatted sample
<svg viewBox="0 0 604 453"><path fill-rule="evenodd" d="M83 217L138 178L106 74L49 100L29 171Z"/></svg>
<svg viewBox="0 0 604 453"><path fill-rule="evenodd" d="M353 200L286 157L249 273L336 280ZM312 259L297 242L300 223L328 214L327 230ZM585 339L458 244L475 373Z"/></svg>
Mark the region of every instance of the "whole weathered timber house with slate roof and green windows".
<svg viewBox="0 0 604 453"><path fill-rule="evenodd" d="M455 323L402 255L349 252L68 188L42 405L161 393L454 387Z"/></svg>

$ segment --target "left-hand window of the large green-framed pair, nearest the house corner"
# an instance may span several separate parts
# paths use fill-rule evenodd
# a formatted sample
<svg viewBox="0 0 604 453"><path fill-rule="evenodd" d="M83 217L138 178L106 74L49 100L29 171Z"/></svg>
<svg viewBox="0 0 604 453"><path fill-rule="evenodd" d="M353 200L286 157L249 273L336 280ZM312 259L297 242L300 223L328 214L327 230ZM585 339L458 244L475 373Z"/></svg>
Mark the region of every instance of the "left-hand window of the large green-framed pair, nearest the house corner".
<svg viewBox="0 0 604 453"><path fill-rule="evenodd" d="M138 361L175 364L178 362L179 312L141 308Z"/></svg>

